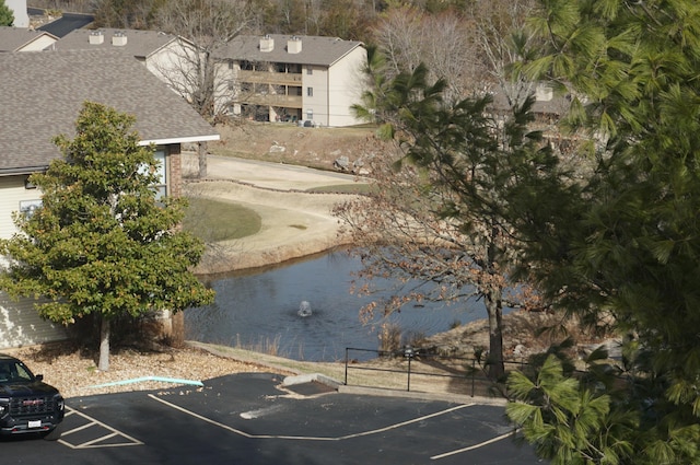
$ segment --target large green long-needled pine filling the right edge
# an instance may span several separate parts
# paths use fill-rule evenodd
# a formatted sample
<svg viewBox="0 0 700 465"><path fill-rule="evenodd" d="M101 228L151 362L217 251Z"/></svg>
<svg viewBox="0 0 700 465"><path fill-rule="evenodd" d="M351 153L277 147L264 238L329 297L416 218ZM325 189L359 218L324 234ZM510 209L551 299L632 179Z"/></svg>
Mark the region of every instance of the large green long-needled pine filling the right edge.
<svg viewBox="0 0 700 465"><path fill-rule="evenodd" d="M535 236L530 258L560 307L629 341L614 384L553 396L571 374L553 359L515 375L511 418L555 463L700 463L700 5L540 1L530 25L544 49L525 69L568 89L597 161L559 246Z"/></svg>

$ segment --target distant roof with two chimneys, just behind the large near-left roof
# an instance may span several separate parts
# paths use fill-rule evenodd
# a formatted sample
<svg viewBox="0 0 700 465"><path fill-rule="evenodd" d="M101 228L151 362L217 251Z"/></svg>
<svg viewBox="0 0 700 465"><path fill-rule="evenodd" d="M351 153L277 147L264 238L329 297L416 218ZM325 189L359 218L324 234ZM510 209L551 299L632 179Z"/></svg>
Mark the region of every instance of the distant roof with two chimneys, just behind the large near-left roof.
<svg viewBox="0 0 700 465"><path fill-rule="evenodd" d="M92 34L102 33L102 44L91 44ZM121 34L126 38L125 45L112 45L115 34ZM165 45L178 39L176 35L161 33L158 31L137 30L75 30L56 43L57 50L94 50L114 49L129 54L137 58L147 58Z"/></svg>

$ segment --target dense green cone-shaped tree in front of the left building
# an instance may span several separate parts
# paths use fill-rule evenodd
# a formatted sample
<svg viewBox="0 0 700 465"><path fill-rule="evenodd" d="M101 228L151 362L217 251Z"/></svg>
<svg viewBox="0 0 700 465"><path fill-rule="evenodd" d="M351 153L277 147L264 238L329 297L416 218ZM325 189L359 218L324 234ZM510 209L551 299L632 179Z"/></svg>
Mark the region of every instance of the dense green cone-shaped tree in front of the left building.
<svg viewBox="0 0 700 465"><path fill-rule="evenodd" d="M135 118L85 103L75 137L58 136L63 158L31 176L42 207L15 213L21 233L0 242L10 258L0 288L44 298L40 315L63 324L101 318L101 370L108 370L109 323L120 316L211 303L189 271L202 244L179 230L185 202L156 199L156 161L139 146Z"/></svg>

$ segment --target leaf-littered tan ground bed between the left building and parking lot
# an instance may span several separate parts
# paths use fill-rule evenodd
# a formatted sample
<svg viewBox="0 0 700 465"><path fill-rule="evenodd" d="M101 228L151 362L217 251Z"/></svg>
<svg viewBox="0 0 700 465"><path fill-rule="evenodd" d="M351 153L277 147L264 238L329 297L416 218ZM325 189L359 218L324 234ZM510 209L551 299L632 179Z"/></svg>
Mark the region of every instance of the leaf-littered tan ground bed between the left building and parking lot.
<svg viewBox="0 0 700 465"><path fill-rule="evenodd" d="M5 349L20 358L35 373L57 387L63 397L80 397L130 391L152 391L182 386L183 392L196 385L177 382L130 380L158 376L202 382L212 377L244 372L279 372L260 364L219 357L195 348L158 350L120 349L109 357L109 371L97 370L97 354L86 353L68 344ZM103 384L108 386L96 387Z"/></svg>

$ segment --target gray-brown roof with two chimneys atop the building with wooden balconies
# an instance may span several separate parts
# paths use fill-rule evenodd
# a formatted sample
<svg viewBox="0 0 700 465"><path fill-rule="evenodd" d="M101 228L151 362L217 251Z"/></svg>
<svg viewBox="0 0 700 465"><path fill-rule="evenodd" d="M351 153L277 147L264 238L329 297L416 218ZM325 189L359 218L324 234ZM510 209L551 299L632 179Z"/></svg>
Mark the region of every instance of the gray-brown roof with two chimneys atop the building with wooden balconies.
<svg viewBox="0 0 700 465"><path fill-rule="evenodd" d="M264 38L272 39L270 51L260 50L260 42ZM301 50L290 53L288 43L299 40ZM362 43L357 40L343 40L337 37L319 37L307 35L268 34L266 36L238 36L217 50L217 57L223 59L270 61L279 63L299 63L330 67L339 59L351 53Z"/></svg>

